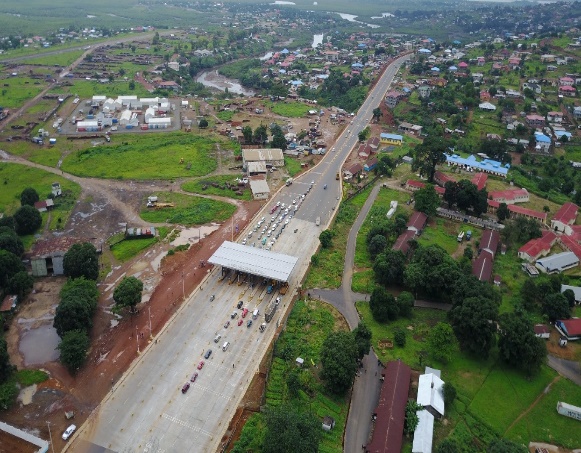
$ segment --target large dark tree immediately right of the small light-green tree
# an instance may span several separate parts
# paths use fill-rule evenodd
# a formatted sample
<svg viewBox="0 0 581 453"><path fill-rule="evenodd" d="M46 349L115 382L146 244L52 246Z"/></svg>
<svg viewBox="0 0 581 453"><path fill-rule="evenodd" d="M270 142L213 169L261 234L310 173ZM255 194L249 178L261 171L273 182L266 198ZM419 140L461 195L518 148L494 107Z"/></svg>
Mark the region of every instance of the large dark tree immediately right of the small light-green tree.
<svg viewBox="0 0 581 453"><path fill-rule="evenodd" d="M449 312L460 347L478 357L487 358L496 334L498 305L482 296L469 297Z"/></svg>

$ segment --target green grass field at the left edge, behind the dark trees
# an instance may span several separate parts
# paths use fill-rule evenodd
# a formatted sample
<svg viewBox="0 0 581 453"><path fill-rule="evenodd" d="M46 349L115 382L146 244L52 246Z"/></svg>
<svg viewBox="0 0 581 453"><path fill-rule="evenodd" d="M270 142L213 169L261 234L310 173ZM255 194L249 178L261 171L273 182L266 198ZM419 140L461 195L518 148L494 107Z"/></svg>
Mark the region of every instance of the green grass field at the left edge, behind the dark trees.
<svg viewBox="0 0 581 453"><path fill-rule="evenodd" d="M63 197L55 199L52 216L64 216L65 218L62 219L64 224L81 193L79 185L37 168L0 163L0 185L2 187L0 190L0 212L8 215L13 214L20 207L20 193L27 187L35 189L41 200L45 199L51 193L53 182L60 183ZM63 205L66 205L64 210L61 208Z"/></svg>

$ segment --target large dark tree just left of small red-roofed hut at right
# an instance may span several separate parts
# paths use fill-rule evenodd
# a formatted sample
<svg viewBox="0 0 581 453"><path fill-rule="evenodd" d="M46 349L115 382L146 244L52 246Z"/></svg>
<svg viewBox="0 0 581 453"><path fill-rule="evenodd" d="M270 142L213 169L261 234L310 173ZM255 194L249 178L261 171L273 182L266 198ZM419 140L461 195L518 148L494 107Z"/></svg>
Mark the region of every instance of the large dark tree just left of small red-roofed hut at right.
<svg viewBox="0 0 581 453"><path fill-rule="evenodd" d="M502 360L528 376L539 372L547 356L544 340L535 336L533 323L522 309L500 316L498 350Z"/></svg>

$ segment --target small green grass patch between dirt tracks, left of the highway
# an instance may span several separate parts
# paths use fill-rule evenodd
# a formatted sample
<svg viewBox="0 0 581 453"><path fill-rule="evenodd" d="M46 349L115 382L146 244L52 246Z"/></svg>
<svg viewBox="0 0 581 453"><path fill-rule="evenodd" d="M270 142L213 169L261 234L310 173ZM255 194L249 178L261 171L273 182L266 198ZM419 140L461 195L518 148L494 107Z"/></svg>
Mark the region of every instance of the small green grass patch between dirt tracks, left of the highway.
<svg viewBox="0 0 581 453"><path fill-rule="evenodd" d="M177 223L180 225L203 225L223 222L236 211L236 206L209 198L183 195L173 192L156 193L159 201L174 203L173 208L149 209L141 211L141 218L152 223Z"/></svg>

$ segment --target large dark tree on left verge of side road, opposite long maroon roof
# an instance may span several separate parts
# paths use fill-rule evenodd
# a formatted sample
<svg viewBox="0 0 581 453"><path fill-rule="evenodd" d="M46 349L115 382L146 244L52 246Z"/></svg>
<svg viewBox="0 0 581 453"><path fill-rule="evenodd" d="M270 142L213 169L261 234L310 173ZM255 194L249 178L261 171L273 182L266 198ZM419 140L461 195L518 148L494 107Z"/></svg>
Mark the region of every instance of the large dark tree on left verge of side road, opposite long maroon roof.
<svg viewBox="0 0 581 453"><path fill-rule="evenodd" d="M357 372L357 343L351 332L333 332L321 347L321 378L327 388L343 395L355 379Z"/></svg>

